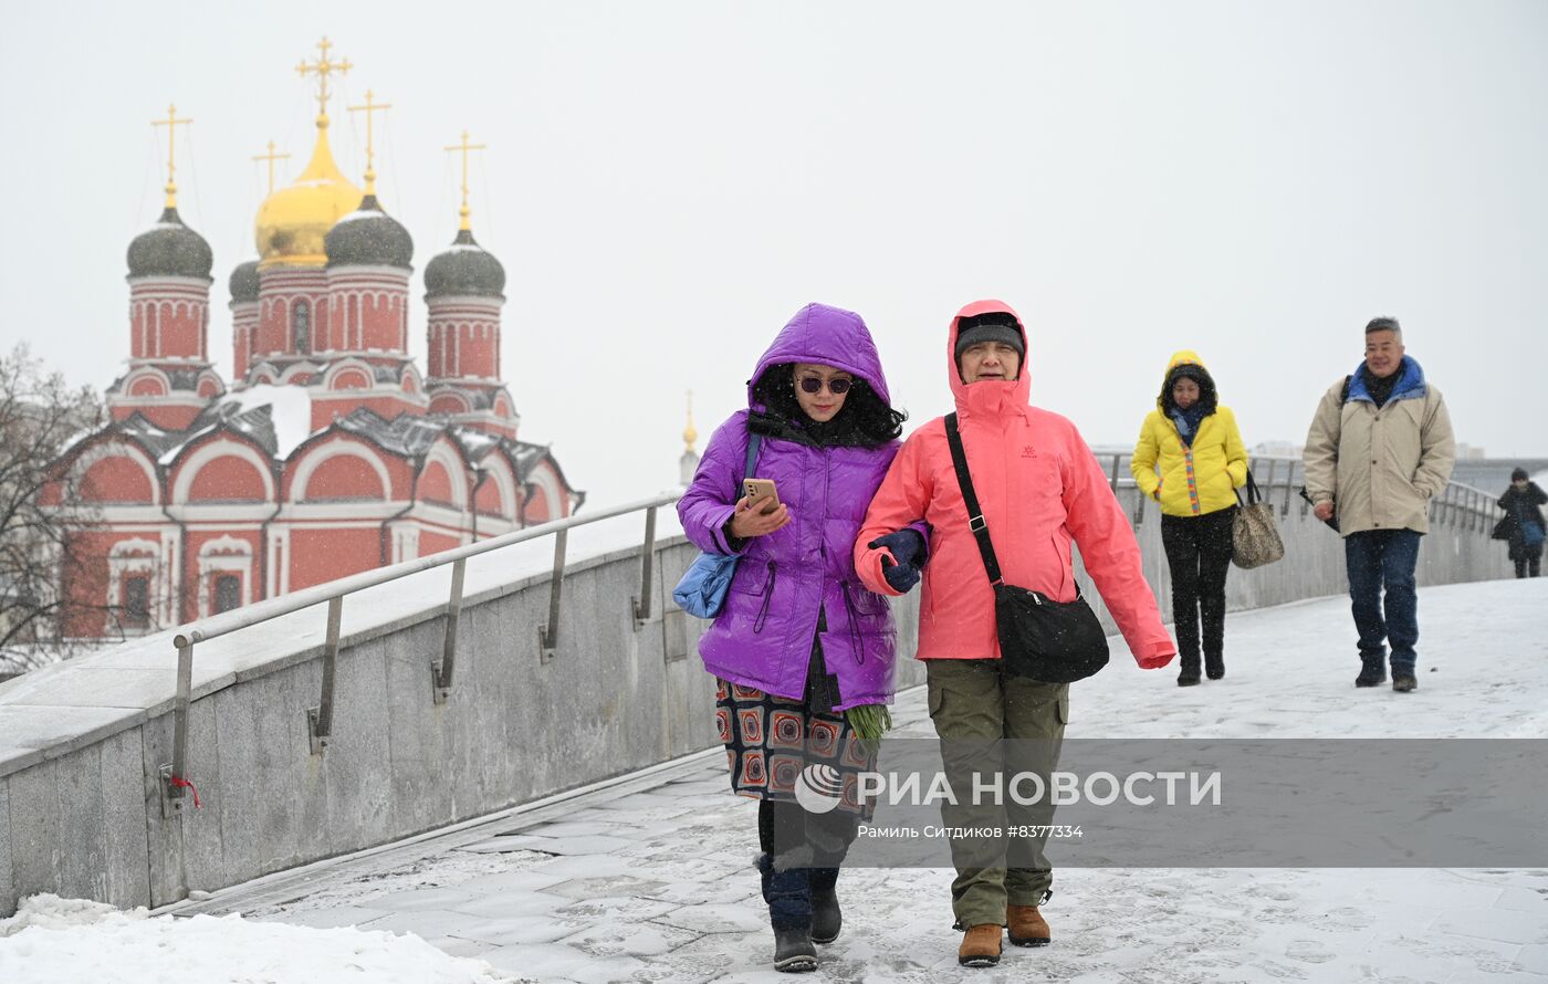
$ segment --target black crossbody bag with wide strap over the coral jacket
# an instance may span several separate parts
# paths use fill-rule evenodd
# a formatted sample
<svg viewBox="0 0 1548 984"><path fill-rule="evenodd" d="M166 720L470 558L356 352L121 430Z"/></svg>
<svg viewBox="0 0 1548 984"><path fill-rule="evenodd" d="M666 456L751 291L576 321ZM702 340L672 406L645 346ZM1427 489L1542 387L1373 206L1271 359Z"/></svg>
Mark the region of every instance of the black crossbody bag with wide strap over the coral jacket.
<svg viewBox="0 0 1548 984"><path fill-rule="evenodd" d="M968 472L955 413L946 416L946 442L952 449L957 483L968 504L968 528L978 540L983 569L994 586L994 624L1006 671L1045 684L1068 684L1091 676L1107 665L1107 633L1096 613L1081 597L1079 588L1073 602L1056 602L1029 588L1005 583Z"/></svg>

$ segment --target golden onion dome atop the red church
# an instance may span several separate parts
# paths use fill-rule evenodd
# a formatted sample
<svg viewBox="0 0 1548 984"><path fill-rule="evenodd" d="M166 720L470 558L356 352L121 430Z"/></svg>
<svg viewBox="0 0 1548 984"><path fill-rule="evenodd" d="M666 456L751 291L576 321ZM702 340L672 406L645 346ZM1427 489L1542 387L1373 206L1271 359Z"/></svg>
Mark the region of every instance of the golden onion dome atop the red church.
<svg viewBox="0 0 1548 984"><path fill-rule="evenodd" d="M259 207L254 234L260 269L272 266L325 266L324 238L334 223L356 210L361 189L344 176L328 149L328 118L317 118L317 145L307 170Z"/></svg>

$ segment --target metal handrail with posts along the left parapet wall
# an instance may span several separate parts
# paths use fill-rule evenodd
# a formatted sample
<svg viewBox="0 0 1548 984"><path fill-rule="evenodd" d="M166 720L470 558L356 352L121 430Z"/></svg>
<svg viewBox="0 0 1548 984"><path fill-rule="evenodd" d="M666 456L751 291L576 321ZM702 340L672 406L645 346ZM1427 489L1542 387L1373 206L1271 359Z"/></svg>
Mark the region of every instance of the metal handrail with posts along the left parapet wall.
<svg viewBox="0 0 1548 984"><path fill-rule="evenodd" d="M187 789L184 783L184 772L187 769L187 718L194 681L195 644L209 642L211 639L218 639L237 630L259 625L260 622L268 622L271 619L327 602L328 628L327 641L324 644L322 695L316 707L307 709L307 732L311 740L311 752L314 755L320 755L327 749L328 738L333 733L333 684L339 656L339 622L344 614L344 599L347 596L367 588L401 580L410 574L420 574L423 571L452 565L452 586L446 602L446 636L443 639L440 656L430 662L432 699L437 704L444 704L452 690L452 670L455 668L457 659L457 624L461 616L463 582L469 557L477 557L480 554L488 554L506 546L515 546L517 543L526 543L546 535L554 537L554 572L553 583L550 585L548 624L539 627L537 630L539 656L543 662L548 662L559 645L559 611L560 594L563 589L565 543L568 540L568 532L577 526L588 526L591 523L615 520L622 515L644 511L646 535L639 597L632 599L630 603L630 616L633 617L635 627L639 628L650 619L652 610L650 559L655 551L656 509L675 503L681 498L681 490L661 492L650 498L624 503L601 512L591 512L580 517L571 515L551 523L543 523L540 526L517 529L489 540L480 540L477 543L467 543L449 551L430 554L429 557L416 557L413 560L404 560L378 568L375 571L362 571L361 574L330 580L322 585L303 588L293 594L248 605L246 608L200 619L198 622L184 627L172 637L172 645L178 651L178 685L176 698L173 701L172 761L159 767L163 814L173 815L181 812Z"/></svg>

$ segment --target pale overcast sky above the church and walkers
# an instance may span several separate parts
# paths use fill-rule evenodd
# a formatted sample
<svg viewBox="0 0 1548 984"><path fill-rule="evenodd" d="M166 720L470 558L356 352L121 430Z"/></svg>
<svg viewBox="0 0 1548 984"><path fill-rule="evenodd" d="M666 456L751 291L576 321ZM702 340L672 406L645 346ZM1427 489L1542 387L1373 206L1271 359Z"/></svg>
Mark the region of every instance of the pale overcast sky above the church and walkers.
<svg viewBox="0 0 1548 984"><path fill-rule="evenodd" d="M226 277L255 255L269 139L313 144L327 34L356 183L367 88L379 193L420 275L457 229L505 263L522 438L593 503L676 481L745 405L803 303L859 311L912 422L947 412L944 331L1000 297L1033 402L1132 444L1195 348L1248 444L1305 436L1376 314L1460 441L1548 456L1548 3L12 5L0 345L105 387L128 351L124 251L161 207L169 102L181 212Z"/></svg>

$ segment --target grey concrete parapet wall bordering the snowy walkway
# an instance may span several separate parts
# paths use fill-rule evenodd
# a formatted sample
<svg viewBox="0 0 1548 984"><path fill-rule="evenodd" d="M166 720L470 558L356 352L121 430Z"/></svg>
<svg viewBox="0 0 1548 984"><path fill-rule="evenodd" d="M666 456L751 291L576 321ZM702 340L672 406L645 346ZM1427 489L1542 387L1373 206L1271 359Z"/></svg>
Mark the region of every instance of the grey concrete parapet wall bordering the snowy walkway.
<svg viewBox="0 0 1548 984"><path fill-rule="evenodd" d="M1345 589L1339 537L1288 494L1269 489L1272 501L1289 503L1280 517L1286 559L1232 569L1232 610ZM1139 518L1146 574L1169 614L1159 514L1153 503L1141 507L1133 487L1119 498ZM1489 517L1452 518L1426 537L1420 583L1506 577ZM670 600L694 555L681 537L658 545L652 616L641 625L632 611L638 548L571 563L546 662L537 627L548 617L548 576L469 593L444 704L432 699L430 662L443 647L447 579L444 569L413 576L418 593L407 597L416 602L399 593L390 617L353 631L345 624L334 727L320 755L307 724L322 685L320 610L207 645L187 764L203 808L170 818L158 778L173 743L170 636L0 684L0 914L40 891L164 905L712 747L701 624ZM1096 593L1088 597L1108 620ZM906 654L916 599L895 608ZM1353 627L1330 627L1328 645L1353 656ZM916 661L901 661L899 687L923 676Z"/></svg>

